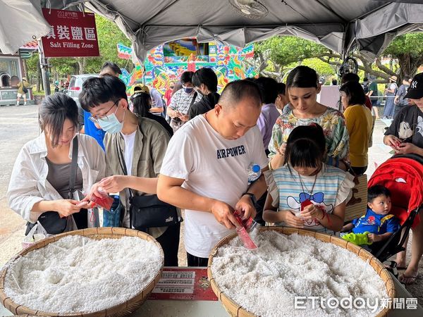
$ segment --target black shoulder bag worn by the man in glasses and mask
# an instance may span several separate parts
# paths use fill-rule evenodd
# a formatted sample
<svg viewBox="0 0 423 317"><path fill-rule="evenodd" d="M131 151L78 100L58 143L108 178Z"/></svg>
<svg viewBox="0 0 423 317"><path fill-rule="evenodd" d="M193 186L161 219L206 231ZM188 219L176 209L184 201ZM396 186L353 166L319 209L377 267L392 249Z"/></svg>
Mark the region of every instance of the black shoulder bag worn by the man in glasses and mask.
<svg viewBox="0 0 423 317"><path fill-rule="evenodd" d="M140 127L141 130L141 127ZM119 164L124 175L128 175L126 170L123 151L116 137L116 149L118 150ZM133 190L129 189L129 216L130 224L135 230L147 232L147 228L168 227L177 225L180 222L178 211L175 206L161 201L157 194L137 196Z"/></svg>

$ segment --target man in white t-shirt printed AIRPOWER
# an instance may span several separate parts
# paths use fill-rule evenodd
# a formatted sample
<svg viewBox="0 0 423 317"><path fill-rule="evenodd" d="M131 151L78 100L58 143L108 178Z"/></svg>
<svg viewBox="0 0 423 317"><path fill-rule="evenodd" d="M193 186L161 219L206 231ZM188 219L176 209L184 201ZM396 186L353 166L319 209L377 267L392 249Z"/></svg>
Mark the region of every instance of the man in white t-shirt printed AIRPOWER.
<svg viewBox="0 0 423 317"><path fill-rule="evenodd" d="M266 191L263 175L248 188L247 168L267 168L257 128L262 100L254 82L226 85L211 111L188 121L173 135L161 166L159 199L185 209L188 266L207 266L214 245L234 232L233 211L255 216Z"/></svg>

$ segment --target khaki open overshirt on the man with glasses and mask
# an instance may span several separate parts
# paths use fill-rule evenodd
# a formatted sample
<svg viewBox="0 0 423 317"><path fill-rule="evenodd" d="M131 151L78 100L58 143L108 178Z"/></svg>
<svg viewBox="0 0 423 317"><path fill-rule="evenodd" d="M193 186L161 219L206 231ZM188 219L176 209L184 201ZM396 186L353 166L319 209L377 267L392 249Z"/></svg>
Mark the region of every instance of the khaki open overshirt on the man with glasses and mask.
<svg viewBox="0 0 423 317"><path fill-rule="evenodd" d="M156 121L147 118L138 118L138 120L141 130L138 128L135 133L132 175L140 178L157 178L170 137L168 132ZM116 141L123 153L125 153L125 140L121 133L106 133L104 136L106 175L108 176L124 174L118 159ZM134 192L138 195L145 194L143 192ZM125 207L123 226L130 228L129 209L126 206L128 201L127 190L123 190L119 195L121 203ZM153 237L160 237L166 229L167 227L149 228L147 233Z"/></svg>

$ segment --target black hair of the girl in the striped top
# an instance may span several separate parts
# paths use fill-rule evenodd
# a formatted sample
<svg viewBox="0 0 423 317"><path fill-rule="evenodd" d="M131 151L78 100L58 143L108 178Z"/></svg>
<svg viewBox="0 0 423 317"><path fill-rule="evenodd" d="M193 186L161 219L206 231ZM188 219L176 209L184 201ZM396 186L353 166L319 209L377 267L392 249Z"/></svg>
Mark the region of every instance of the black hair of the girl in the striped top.
<svg viewBox="0 0 423 317"><path fill-rule="evenodd" d="M317 123L300 125L286 142L285 163L293 167L317 168L324 161L326 139Z"/></svg>

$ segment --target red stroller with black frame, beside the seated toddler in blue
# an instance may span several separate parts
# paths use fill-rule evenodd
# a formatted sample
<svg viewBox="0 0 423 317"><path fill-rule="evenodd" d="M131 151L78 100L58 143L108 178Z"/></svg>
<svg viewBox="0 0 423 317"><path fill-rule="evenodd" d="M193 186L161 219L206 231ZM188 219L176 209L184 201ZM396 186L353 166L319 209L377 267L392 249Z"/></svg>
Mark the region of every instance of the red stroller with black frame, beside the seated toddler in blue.
<svg viewBox="0 0 423 317"><path fill-rule="evenodd" d="M423 157L416 154L397 155L379 166L367 186L384 185L391 192L392 210L401 223L395 232L374 251L382 263L400 251L410 228L419 223L419 209L423 207ZM403 237L401 232L404 231Z"/></svg>

